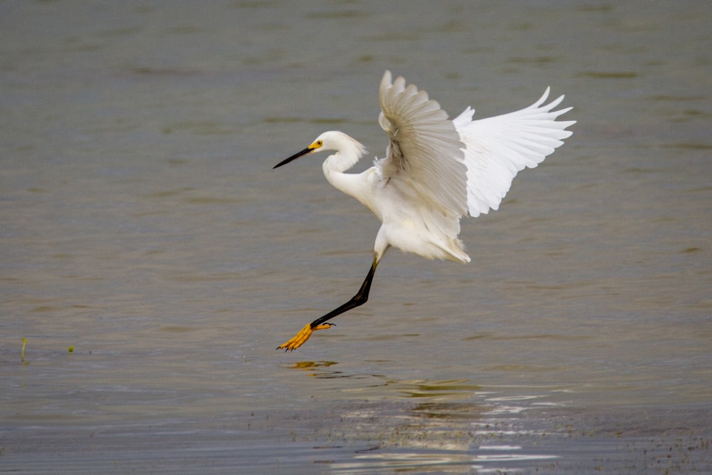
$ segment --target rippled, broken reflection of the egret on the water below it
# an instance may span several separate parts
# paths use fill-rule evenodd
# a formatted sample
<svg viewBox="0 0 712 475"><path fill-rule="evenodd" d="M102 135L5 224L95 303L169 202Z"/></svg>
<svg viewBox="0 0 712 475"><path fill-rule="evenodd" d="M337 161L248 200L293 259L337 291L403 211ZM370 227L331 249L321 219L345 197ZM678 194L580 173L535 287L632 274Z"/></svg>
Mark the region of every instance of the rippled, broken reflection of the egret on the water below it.
<svg viewBox="0 0 712 475"><path fill-rule="evenodd" d="M353 451L332 456L334 473L397 471L468 471L521 469L534 460L557 458L550 451L523 447L517 437L524 407L513 400L498 402L467 379L398 380L384 375L336 369L338 362L300 361L284 365L318 379L356 378L357 387L343 388L328 417L312 421L314 430L329 434L331 444ZM522 406L529 404L522 397ZM336 447L332 445L330 447Z"/></svg>

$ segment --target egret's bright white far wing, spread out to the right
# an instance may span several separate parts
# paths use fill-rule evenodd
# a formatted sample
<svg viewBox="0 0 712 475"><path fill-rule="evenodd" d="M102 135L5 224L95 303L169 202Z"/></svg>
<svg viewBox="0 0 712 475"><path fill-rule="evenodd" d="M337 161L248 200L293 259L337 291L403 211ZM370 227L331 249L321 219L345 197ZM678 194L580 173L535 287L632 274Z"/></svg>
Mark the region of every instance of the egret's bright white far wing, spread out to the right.
<svg viewBox="0 0 712 475"><path fill-rule="evenodd" d="M544 104L549 88L528 108L495 117L472 120L467 108L453 120L465 145L467 207L470 216L498 209L517 172L536 167L572 132L574 120L556 121L571 110L552 110L564 96Z"/></svg>

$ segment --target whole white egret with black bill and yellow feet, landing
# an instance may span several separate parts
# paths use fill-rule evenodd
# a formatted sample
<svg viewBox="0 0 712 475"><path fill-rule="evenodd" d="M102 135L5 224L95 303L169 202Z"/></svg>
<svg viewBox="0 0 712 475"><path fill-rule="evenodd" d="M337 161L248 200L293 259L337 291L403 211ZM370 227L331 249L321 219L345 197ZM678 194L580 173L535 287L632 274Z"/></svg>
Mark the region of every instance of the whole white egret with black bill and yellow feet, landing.
<svg viewBox="0 0 712 475"><path fill-rule="evenodd" d="M313 152L332 150L322 169L328 182L360 201L381 220L371 268L355 296L305 325L277 347L295 350L313 331L330 328L327 320L364 304L378 263L389 247L426 259L469 262L460 234L460 218L498 209L517 172L536 167L572 132L575 121L556 121L571 108L553 110L564 96L545 104L549 88L528 108L472 120L466 108L450 120L424 90L392 82L386 71L379 88L378 123L388 135L386 157L359 174L347 174L366 150L342 132L324 132L301 152L274 168Z"/></svg>

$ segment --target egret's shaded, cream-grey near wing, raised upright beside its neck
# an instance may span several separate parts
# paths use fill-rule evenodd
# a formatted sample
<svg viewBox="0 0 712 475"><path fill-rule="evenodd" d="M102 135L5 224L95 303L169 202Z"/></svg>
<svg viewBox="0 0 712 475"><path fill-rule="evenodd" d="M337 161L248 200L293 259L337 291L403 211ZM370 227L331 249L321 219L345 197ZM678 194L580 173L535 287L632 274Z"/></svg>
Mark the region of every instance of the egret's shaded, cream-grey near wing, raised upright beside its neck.
<svg viewBox="0 0 712 475"><path fill-rule="evenodd" d="M423 206L446 215L459 232L467 214L464 145L440 105L415 85L386 71L379 88L378 122L388 134L387 157L377 162L382 177ZM453 236L454 237L454 236Z"/></svg>

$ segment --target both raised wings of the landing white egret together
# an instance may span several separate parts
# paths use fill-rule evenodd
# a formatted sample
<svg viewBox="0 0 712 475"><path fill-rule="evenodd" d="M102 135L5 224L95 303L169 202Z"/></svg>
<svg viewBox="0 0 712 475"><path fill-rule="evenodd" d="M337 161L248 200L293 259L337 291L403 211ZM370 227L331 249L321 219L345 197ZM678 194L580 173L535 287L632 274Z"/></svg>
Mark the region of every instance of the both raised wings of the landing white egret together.
<svg viewBox="0 0 712 475"><path fill-rule="evenodd" d="M449 120L424 90L406 85L386 71L379 88L378 122L387 132L387 155L375 162L381 183L401 203L417 210L427 229L439 230L444 246L468 260L457 239L460 218L498 209L516 174L536 167L562 140L575 121L556 118L571 108L553 110L564 96L544 104L549 89L528 108L493 118L472 120L467 108ZM459 251L457 251L459 249Z"/></svg>

